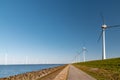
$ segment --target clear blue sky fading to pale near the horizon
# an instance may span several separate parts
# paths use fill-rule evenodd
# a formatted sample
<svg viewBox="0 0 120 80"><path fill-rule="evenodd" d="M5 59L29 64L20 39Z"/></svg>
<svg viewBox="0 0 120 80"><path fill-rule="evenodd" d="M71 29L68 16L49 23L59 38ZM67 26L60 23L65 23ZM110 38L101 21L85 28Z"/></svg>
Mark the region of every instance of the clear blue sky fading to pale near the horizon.
<svg viewBox="0 0 120 80"><path fill-rule="evenodd" d="M83 46L87 60L101 59L101 12L107 25L120 24L119 0L0 0L0 64L5 54L9 64L26 56L28 63L67 63ZM106 53L120 57L120 28L106 31Z"/></svg>

